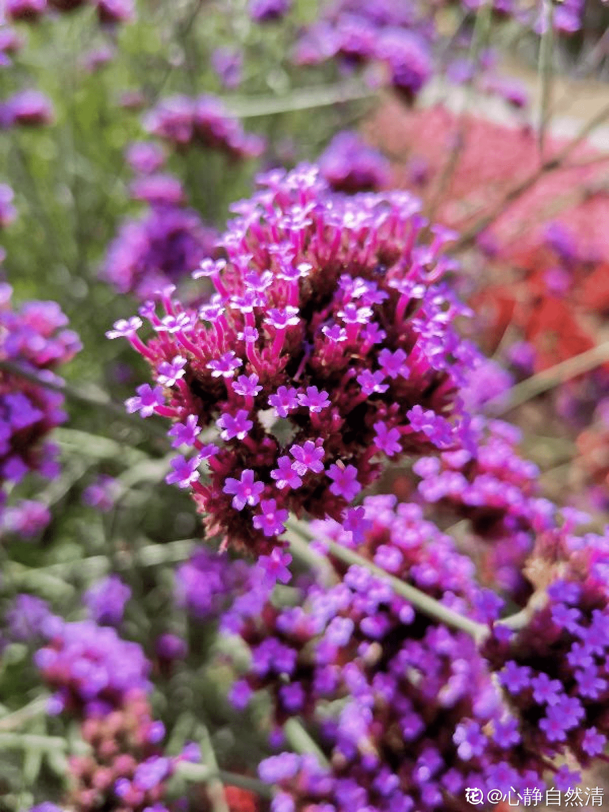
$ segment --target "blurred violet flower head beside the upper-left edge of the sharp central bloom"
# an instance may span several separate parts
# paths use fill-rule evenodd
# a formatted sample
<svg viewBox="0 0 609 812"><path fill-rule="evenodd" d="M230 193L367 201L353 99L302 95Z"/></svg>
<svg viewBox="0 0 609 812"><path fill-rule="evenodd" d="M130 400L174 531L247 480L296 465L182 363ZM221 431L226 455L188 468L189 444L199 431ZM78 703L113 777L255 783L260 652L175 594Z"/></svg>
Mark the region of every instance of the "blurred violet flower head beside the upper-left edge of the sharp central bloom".
<svg viewBox="0 0 609 812"><path fill-rule="evenodd" d="M142 218L123 222L102 273L119 292L144 299L192 273L214 253L217 239L217 232L193 209L154 206Z"/></svg>

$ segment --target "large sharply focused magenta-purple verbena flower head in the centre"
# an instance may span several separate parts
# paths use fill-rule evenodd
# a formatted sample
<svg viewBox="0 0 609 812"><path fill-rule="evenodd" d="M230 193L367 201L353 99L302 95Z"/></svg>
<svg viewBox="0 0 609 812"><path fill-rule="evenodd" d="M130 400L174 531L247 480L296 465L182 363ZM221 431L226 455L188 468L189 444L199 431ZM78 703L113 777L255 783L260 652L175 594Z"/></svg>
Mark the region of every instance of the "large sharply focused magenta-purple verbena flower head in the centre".
<svg viewBox="0 0 609 812"><path fill-rule="evenodd" d="M145 304L157 334L147 345L137 319L110 331L159 382L187 360L175 385L140 387L129 408L215 430L213 443L193 438L168 481L192 488L209 533L257 553L289 510L338 518L383 459L467 443L456 393L476 357L451 326L469 311L441 281L447 235L419 244L417 200L336 196L309 166L261 186L235 206L227 261L194 274L214 283L208 304L184 309L171 292L163 313ZM242 505L233 481L244 476Z"/></svg>

